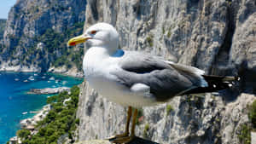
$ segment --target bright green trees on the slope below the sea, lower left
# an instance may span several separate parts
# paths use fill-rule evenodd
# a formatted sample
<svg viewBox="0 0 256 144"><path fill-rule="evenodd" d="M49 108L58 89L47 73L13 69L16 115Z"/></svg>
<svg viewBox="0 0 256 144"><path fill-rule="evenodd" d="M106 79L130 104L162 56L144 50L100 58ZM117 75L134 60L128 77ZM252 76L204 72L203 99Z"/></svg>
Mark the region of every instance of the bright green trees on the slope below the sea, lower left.
<svg viewBox="0 0 256 144"><path fill-rule="evenodd" d="M52 109L46 118L36 125L38 133L32 135L29 130L19 130L17 135L23 144L56 144L62 135L67 135L71 141L74 137L79 119L76 118L76 111L79 102L79 87L73 86L71 94L62 92L48 98L47 102Z"/></svg>

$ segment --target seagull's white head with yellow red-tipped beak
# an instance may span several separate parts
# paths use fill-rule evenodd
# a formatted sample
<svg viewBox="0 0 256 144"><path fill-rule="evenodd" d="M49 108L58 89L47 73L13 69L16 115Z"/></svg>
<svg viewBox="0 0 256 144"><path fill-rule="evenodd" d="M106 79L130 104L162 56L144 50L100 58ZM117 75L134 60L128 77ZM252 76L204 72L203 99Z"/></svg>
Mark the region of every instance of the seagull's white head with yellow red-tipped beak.
<svg viewBox="0 0 256 144"><path fill-rule="evenodd" d="M67 45L74 46L85 42L89 43L90 47L103 47L116 51L119 46L119 33L107 23L97 23L90 26L81 36L70 39Z"/></svg>

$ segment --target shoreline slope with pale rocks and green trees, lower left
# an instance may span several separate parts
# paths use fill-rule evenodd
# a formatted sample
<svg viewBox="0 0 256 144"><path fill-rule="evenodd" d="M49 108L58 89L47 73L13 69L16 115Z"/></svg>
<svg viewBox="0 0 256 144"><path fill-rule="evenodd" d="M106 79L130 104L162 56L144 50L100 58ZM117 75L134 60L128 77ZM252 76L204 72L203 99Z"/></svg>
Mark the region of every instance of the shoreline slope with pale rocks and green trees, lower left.
<svg viewBox="0 0 256 144"><path fill-rule="evenodd" d="M70 94L65 93L50 98L48 105L32 118L20 120L21 129L16 131L14 137L9 138L8 143L21 144L22 141L26 141L25 143L38 143L38 141L69 143L77 141L79 118L76 117L76 113L79 106L79 94L80 89L77 85L71 88ZM45 139L41 139L42 137Z"/></svg>

